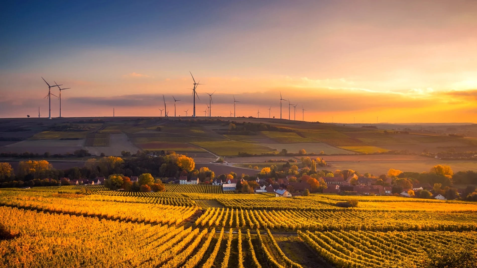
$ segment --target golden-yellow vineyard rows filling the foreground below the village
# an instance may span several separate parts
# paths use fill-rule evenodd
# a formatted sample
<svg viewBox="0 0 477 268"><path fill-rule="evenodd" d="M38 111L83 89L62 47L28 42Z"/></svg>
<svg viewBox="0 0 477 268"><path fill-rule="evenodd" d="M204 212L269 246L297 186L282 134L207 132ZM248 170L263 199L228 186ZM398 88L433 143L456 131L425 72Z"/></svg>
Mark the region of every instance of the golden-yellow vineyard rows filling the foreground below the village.
<svg viewBox="0 0 477 268"><path fill-rule="evenodd" d="M93 194L73 193L83 187ZM338 208L346 197L224 194L207 185L34 189L0 189L0 266L419 268L436 248L477 244L477 205L463 201L353 197L376 207Z"/></svg>

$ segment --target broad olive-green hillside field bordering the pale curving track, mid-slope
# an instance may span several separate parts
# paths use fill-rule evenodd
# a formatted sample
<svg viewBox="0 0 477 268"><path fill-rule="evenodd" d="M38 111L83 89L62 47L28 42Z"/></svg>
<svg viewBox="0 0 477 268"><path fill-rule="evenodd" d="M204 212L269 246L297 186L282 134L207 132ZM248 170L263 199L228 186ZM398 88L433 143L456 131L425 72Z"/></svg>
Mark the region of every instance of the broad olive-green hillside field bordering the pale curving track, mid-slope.
<svg viewBox="0 0 477 268"><path fill-rule="evenodd" d="M219 156L237 156L239 152L257 155L262 153L278 153L278 151L266 146L237 140L202 141L192 142L192 144L203 147Z"/></svg>

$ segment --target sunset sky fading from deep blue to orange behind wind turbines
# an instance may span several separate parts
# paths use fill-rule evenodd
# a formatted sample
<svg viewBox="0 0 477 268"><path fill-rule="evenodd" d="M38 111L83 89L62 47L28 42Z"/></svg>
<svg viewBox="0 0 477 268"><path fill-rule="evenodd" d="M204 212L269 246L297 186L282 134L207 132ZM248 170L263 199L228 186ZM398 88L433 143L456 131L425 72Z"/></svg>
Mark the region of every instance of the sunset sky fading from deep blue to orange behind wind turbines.
<svg viewBox="0 0 477 268"><path fill-rule="evenodd" d="M477 1L8 1L0 117L477 122ZM52 88L58 95L58 89ZM258 112L260 112L258 114ZM59 100L52 97L52 117Z"/></svg>

